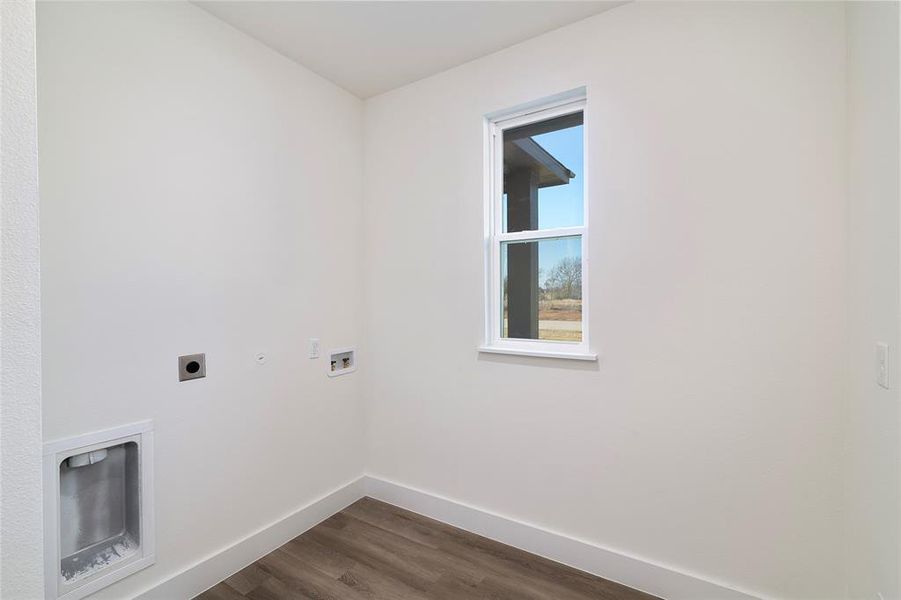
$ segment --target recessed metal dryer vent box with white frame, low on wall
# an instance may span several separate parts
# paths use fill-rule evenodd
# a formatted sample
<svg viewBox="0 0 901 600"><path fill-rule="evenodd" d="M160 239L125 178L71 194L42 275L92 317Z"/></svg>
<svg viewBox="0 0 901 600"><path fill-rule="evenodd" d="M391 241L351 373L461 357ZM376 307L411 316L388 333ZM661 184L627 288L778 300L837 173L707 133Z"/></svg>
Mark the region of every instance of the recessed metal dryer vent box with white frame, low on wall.
<svg viewBox="0 0 901 600"><path fill-rule="evenodd" d="M77 600L154 562L153 423L44 444L46 597Z"/></svg>

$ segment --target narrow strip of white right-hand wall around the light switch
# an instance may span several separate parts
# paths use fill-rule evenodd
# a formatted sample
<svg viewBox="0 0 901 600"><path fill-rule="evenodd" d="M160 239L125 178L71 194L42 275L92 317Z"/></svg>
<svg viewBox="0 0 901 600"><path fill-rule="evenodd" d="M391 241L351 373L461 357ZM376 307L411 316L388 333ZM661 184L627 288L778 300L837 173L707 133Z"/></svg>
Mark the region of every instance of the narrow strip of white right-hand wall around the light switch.
<svg viewBox="0 0 901 600"><path fill-rule="evenodd" d="M848 19L849 597L899 589L898 4L852 2ZM875 345L894 352L892 389Z"/></svg>

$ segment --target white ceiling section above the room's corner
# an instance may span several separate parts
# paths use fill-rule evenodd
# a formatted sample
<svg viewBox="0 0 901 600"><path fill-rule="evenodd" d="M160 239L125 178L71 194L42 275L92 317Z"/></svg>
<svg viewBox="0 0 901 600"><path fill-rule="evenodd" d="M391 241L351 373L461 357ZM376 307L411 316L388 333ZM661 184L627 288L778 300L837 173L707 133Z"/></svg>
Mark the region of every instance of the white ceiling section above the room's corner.
<svg viewBox="0 0 901 600"><path fill-rule="evenodd" d="M368 98L621 1L209 1L199 7Z"/></svg>

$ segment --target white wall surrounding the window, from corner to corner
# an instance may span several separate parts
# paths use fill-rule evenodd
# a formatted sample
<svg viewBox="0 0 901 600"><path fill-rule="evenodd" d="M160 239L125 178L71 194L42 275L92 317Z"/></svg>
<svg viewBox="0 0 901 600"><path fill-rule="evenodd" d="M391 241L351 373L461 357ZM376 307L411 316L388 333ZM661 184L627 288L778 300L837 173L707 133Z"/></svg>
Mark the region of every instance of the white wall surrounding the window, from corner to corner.
<svg viewBox="0 0 901 600"><path fill-rule="evenodd" d="M366 104L375 476L836 598L839 3L633 3ZM482 115L588 86L597 364L480 356Z"/></svg>

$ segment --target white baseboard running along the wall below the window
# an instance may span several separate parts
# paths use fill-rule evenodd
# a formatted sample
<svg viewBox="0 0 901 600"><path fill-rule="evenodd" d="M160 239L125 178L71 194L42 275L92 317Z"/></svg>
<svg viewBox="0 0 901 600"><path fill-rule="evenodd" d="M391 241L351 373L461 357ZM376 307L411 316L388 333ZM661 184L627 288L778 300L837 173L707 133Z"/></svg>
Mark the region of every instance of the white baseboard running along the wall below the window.
<svg viewBox="0 0 901 600"><path fill-rule="evenodd" d="M449 498L367 475L365 495L667 600L761 597Z"/></svg>

